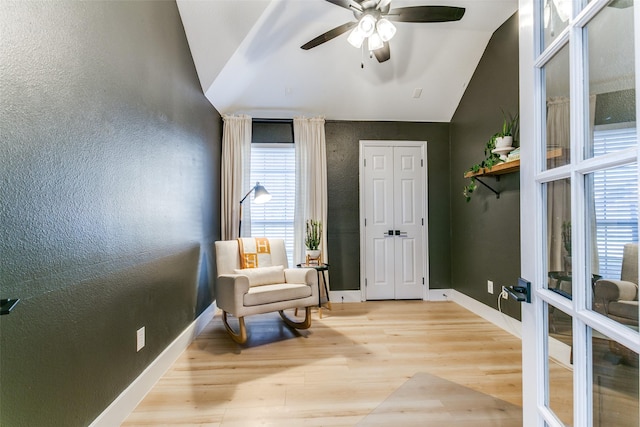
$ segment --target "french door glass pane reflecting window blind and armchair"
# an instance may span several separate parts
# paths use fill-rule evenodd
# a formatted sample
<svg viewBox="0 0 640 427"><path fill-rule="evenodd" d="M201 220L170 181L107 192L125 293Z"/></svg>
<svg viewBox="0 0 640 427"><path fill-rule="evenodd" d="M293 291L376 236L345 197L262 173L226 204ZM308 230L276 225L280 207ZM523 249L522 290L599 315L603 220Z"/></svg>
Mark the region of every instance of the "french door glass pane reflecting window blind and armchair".
<svg viewBox="0 0 640 427"><path fill-rule="evenodd" d="M593 309L638 327L638 165L585 177Z"/></svg>

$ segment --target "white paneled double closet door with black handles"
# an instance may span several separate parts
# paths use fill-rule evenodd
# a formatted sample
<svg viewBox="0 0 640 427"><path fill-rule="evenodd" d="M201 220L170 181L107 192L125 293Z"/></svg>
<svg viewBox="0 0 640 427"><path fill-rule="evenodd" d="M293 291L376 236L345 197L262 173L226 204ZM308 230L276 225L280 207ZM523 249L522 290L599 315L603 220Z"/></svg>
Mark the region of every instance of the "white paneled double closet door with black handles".
<svg viewBox="0 0 640 427"><path fill-rule="evenodd" d="M363 299L426 295L426 143L361 141Z"/></svg>

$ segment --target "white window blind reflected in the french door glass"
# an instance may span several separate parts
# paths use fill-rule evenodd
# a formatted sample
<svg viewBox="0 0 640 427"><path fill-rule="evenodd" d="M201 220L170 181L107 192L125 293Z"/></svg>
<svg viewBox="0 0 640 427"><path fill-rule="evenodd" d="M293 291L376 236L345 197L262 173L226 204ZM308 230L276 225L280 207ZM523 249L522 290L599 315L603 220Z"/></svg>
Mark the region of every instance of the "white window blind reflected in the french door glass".
<svg viewBox="0 0 640 427"><path fill-rule="evenodd" d="M598 129L594 155L620 151L637 144L636 128ZM638 172L631 164L594 173L599 274L620 278L625 243L638 241Z"/></svg>

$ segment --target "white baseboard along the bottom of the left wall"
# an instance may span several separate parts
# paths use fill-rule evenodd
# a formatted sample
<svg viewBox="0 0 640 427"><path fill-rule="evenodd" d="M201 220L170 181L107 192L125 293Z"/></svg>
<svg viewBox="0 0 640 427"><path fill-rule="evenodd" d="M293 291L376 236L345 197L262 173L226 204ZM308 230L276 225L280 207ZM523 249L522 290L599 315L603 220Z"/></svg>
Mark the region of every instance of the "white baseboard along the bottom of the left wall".
<svg viewBox="0 0 640 427"><path fill-rule="evenodd" d="M142 371L93 422L90 427L119 426L138 406L182 352L211 322L217 310L215 302L198 316L156 359Z"/></svg>

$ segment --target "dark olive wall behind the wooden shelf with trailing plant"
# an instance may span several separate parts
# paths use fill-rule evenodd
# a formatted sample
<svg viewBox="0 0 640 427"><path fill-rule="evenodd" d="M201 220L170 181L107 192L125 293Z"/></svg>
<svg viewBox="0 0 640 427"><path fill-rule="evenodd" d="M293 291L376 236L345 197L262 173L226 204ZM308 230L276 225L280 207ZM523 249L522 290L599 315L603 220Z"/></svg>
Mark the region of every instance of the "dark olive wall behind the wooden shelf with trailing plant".
<svg viewBox="0 0 640 427"><path fill-rule="evenodd" d="M451 121L451 284L452 288L497 308L502 285L520 276L520 174L486 182L467 203L463 178L483 158L484 146L502 125L502 111L518 111L518 17L493 34ZM487 280L495 293L487 292ZM517 303L505 301L504 311L520 317Z"/></svg>

